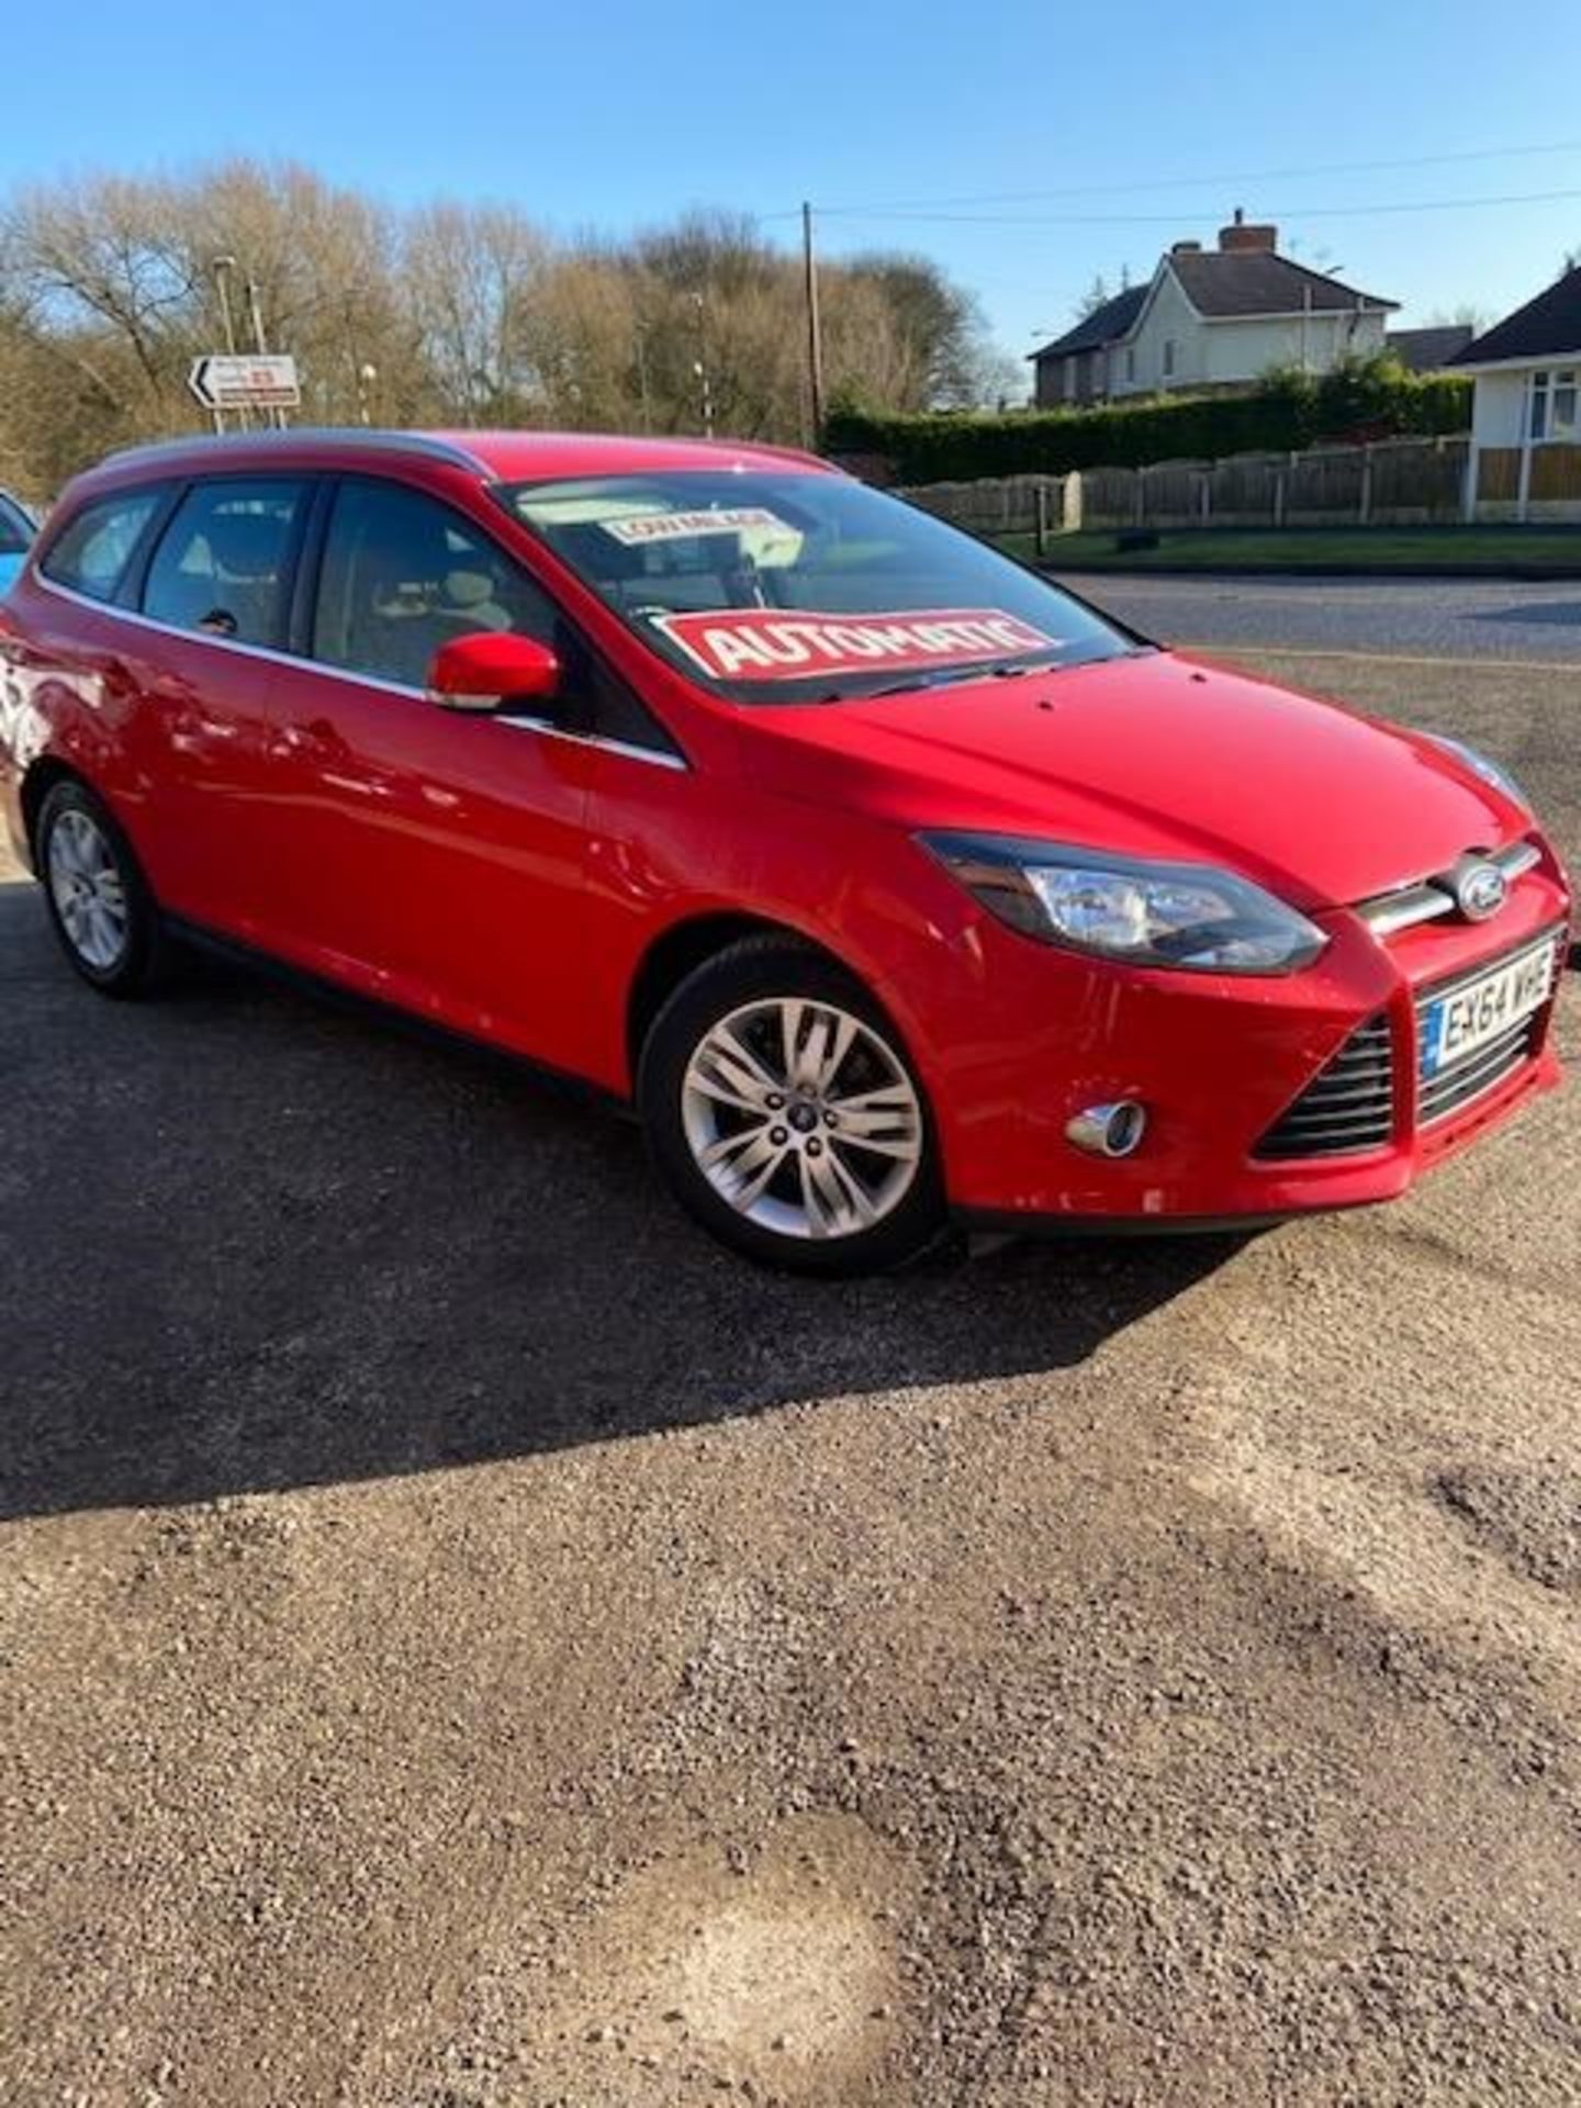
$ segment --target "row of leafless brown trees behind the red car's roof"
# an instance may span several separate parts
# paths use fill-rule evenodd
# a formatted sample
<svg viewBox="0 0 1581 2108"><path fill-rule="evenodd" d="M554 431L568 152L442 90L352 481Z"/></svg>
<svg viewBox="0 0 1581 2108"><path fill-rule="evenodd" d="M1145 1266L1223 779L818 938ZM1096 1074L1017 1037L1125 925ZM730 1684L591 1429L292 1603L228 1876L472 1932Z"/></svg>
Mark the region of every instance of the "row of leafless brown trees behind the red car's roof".
<svg viewBox="0 0 1581 2108"><path fill-rule="evenodd" d="M835 396L993 401L982 318L928 259L822 272ZM624 242L514 207L394 213L293 162L97 175L0 204L0 464L46 495L116 445L200 426L192 360L293 352L316 422L805 432L799 259L731 211Z"/></svg>

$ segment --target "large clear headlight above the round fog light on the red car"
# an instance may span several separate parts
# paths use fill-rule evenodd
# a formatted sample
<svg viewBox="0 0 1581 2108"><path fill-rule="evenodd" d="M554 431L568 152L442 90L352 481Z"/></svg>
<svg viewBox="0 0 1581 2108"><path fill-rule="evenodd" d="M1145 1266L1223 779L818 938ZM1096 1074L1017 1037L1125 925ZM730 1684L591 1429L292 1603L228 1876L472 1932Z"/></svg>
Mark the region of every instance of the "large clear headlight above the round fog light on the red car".
<svg viewBox="0 0 1581 2108"><path fill-rule="evenodd" d="M923 835L999 921L1048 944L1187 974L1294 974L1328 936L1210 864L1145 864L1012 835Z"/></svg>

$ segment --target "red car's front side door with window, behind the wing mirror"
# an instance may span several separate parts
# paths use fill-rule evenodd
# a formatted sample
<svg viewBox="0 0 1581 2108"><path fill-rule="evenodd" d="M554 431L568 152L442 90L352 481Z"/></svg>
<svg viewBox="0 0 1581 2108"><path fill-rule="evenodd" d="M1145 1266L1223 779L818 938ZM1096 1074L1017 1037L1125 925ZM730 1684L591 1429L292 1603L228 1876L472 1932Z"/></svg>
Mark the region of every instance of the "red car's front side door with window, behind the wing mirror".
<svg viewBox="0 0 1581 2108"><path fill-rule="evenodd" d="M470 630L554 643L544 590L474 521L346 476L320 525L304 662L274 696L276 949L453 1029L580 1069L592 753L428 700Z"/></svg>

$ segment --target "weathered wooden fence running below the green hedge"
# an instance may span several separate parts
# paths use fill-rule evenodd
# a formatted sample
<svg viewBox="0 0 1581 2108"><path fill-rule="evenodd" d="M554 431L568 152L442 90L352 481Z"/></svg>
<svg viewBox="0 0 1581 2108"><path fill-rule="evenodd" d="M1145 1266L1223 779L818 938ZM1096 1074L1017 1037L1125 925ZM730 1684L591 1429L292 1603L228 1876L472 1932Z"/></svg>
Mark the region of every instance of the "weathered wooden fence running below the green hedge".
<svg viewBox="0 0 1581 2108"><path fill-rule="evenodd" d="M1463 516L1469 441L1381 438L1223 462L1084 468L900 491L974 533L1121 527L1427 527Z"/></svg>

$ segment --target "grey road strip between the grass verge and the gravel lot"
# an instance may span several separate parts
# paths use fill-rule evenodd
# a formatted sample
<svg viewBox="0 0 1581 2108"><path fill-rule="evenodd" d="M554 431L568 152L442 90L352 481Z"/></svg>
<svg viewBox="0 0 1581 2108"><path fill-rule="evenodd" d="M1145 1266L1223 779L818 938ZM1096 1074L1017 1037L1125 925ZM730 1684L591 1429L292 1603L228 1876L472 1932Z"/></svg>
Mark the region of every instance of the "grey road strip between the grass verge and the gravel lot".
<svg viewBox="0 0 1581 2108"><path fill-rule="evenodd" d="M1073 575L1069 584L1166 643L1554 660L1568 664L1581 700L1581 584L1111 578L1096 571Z"/></svg>

